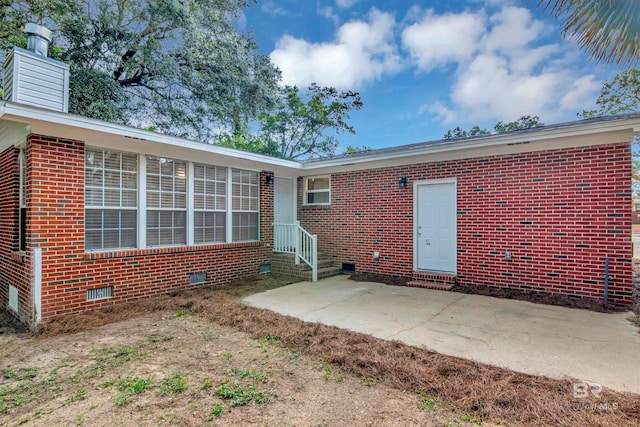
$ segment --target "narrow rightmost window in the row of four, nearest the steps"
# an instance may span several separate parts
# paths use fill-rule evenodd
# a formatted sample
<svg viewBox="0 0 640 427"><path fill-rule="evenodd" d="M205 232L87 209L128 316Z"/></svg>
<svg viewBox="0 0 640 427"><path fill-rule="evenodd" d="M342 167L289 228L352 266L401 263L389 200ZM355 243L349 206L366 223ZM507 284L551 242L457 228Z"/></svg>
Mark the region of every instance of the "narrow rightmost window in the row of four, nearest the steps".
<svg viewBox="0 0 640 427"><path fill-rule="evenodd" d="M232 240L258 240L259 217L258 173L231 171Z"/></svg>

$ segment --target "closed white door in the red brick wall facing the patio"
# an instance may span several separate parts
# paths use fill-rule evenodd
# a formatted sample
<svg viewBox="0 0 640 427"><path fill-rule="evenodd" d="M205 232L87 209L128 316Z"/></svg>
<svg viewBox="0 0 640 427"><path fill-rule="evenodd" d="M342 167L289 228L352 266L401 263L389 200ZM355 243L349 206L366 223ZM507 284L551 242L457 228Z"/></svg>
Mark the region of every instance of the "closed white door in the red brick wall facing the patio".
<svg viewBox="0 0 640 427"><path fill-rule="evenodd" d="M455 273L455 182L416 185L414 203L416 268Z"/></svg>

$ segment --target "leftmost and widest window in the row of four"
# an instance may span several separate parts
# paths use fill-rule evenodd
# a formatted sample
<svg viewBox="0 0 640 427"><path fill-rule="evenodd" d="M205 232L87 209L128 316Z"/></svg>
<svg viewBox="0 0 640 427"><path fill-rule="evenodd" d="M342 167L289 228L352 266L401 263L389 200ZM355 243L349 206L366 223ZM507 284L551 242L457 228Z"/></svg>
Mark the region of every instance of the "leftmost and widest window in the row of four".
<svg viewBox="0 0 640 427"><path fill-rule="evenodd" d="M138 232L138 158L85 150L85 248L135 248Z"/></svg>

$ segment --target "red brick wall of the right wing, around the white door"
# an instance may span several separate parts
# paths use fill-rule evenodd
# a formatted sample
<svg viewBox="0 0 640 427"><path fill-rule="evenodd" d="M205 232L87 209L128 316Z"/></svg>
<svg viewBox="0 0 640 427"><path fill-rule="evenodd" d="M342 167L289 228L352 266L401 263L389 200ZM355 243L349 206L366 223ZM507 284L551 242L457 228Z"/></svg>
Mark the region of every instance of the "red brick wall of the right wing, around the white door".
<svg viewBox="0 0 640 427"><path fill-rule="evenodd" d="M337 173L330 206L303 206L298 183L298 218L338 262L411 276L413 182L450 177L457 179L461 284L602 299L609 258L609 296L631 303L629 144Z"/></svg>

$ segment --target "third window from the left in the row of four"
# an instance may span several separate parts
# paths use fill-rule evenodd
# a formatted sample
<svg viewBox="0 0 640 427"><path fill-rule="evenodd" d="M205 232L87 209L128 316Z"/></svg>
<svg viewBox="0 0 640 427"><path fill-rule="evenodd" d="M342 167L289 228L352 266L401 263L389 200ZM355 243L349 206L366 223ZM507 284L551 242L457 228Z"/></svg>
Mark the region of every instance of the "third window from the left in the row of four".
<svg viewBox="0 0 640 427"><path fill-rule="evenodd" d="M193 165L193 240L195 244L226 241L227 169Z"/></svg>

